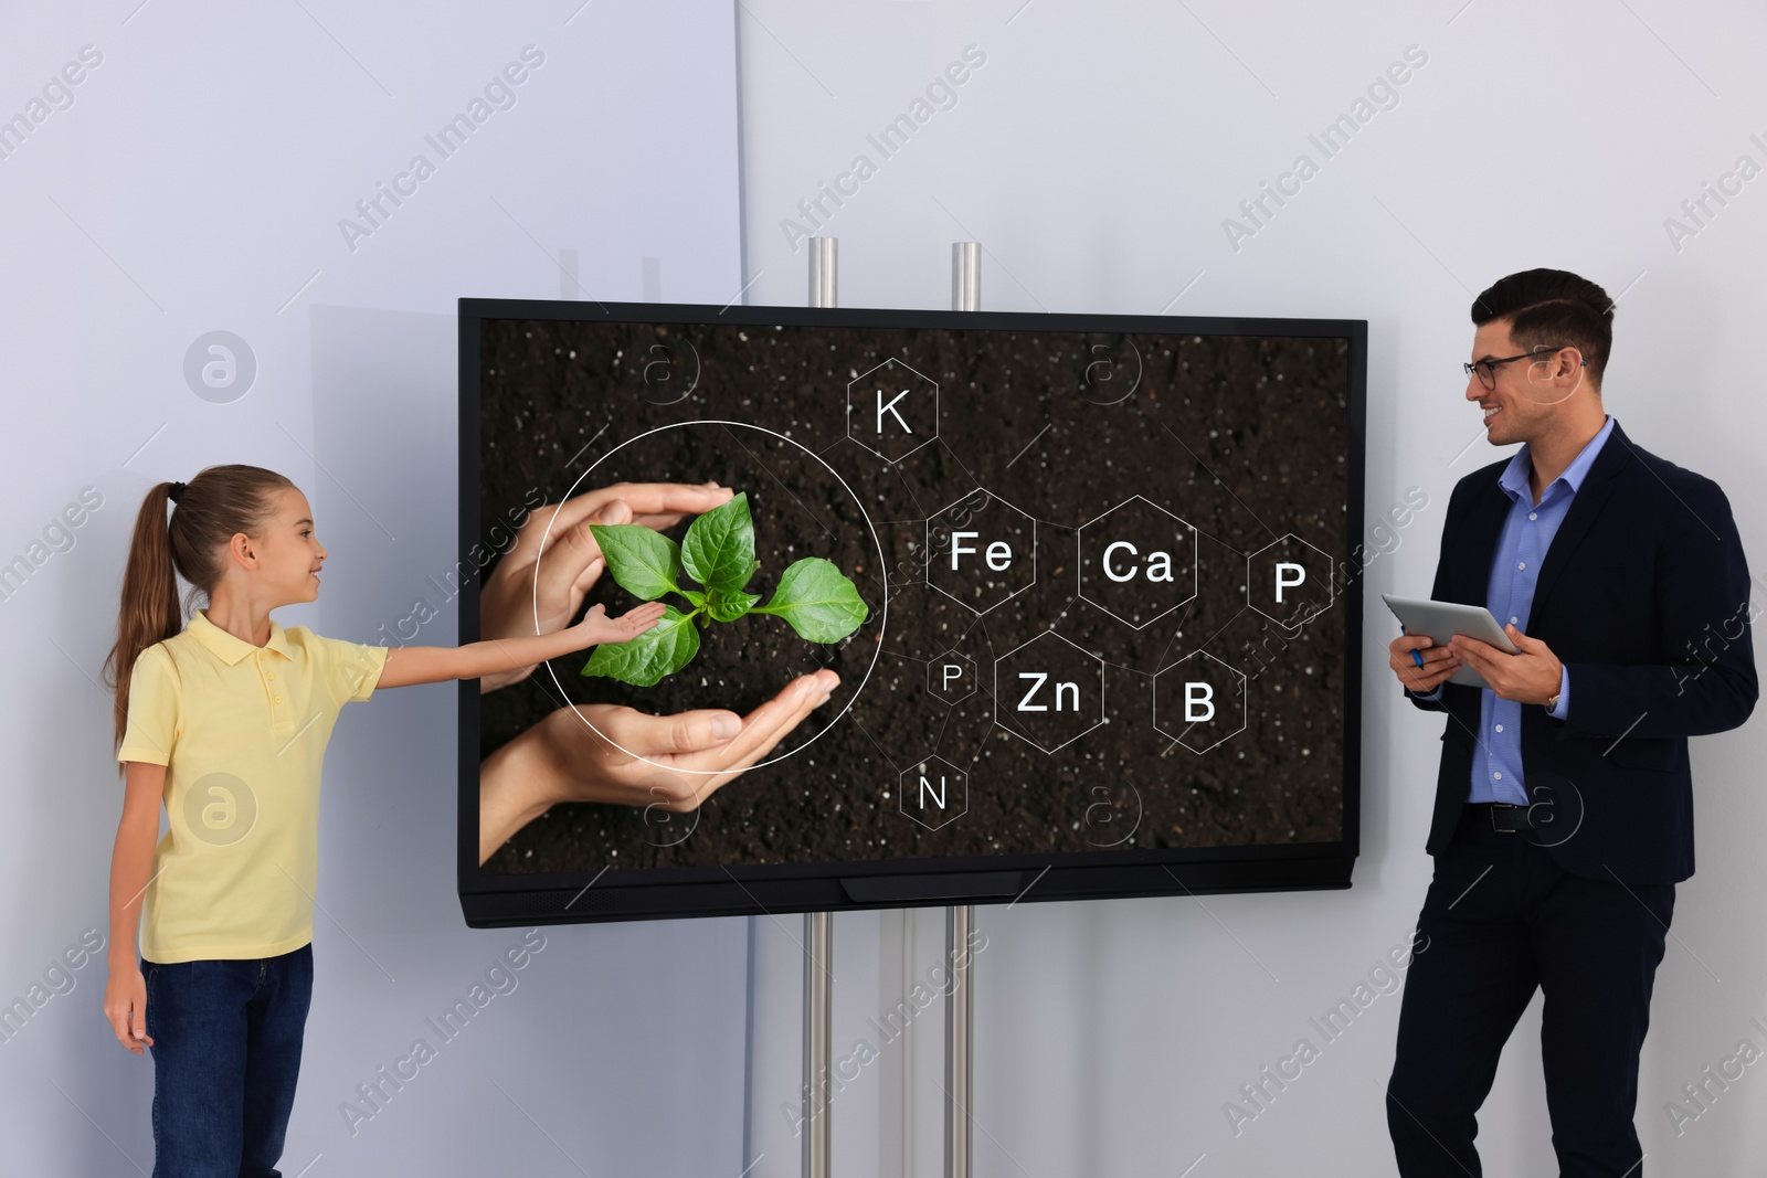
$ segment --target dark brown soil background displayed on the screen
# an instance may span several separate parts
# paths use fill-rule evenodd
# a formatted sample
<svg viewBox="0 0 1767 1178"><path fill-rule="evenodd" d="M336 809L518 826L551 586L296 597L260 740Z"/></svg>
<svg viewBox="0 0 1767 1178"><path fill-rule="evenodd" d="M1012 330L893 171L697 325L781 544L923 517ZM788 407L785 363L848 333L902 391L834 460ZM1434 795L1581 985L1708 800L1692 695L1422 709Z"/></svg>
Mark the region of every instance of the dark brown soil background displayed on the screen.
<svg viewBox="0 0 1767 1178"><path fill-rule="evenodd" d="M892 357L937 383L937 436L915 419L928 440L894 463L848 436L848 385ZM823 556L871 611L829 646L772 616L712 623L693 662L656 687L585 678L583 652L486 694L481 759L571 703L746 714L795 675L841 676L772 763L698 814L553 805L486 872L1343 837L1345 611L1281 629L1246 595L1248 556L1286 533L1325 562L1348 551L1343 341L491 321L481 362L481 519L507 519L532 489L551 505L613 482L716 479L749 496L760 560L749 592L765 600L786 565ZM869 385L857 389L862 434L875 406ZM1115 616L1080 597L1080 530L1124 503L1143 533L1182 521L1172 533L1191 549L1180 563L1196 585L1186 604L1157 613L1157 593L1133 609L1119 597L1126 616ZM949 562L947 509L1020 537L1020 555L1034 532L1035 578L1020 563L986 593L1009 592L1011 576L1028 586L981 615L929 588L928 562ZM638 604L610 576L585 606L595 602L610 615ZM1055 650L1051 675L1103 662L1101 715L1053 752L997 722L1020 699L1012 652L1046 631L1078 648L1034 646ZM1246 676L1244 729L1205 752L1168 735L1184 731L1173 676L1159 680L1156 728L1156 673L1194 652ZM954 703L931 682L945 662L975 668L975 689ZM944 818L937 828L903 811L926 802L928 758L949 766L956 795L917 811Z"/></svg>

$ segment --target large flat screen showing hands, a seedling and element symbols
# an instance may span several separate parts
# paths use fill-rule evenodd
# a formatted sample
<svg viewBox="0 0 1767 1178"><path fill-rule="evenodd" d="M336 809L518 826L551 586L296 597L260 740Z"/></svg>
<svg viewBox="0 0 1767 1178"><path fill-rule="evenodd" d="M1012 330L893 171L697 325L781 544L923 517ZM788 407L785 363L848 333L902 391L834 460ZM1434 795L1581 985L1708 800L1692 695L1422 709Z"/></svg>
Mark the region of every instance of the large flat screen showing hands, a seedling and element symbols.
<svg viewBox="0 0 1767 1178"><path fill-rule="evenodd" d="M463 298L459 641L666 606L459 685L466 922L1348 887L1364 357Z"/></svg>

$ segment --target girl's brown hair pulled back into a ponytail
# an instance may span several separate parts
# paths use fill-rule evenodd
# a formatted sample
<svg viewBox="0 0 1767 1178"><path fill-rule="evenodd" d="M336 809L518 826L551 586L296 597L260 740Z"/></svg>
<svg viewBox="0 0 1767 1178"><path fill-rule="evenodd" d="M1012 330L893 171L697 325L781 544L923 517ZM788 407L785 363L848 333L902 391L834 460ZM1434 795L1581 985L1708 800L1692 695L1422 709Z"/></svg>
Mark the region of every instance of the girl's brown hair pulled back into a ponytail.
<svg viewBox="0 0 1767 1178"><path fill-rule="evenodd" d="M276 510L272 496L293 486L262 466L207 466L178 493L170 523L166 503L173 484L161 482L148 489L134 517L122 574L117 643L104 661L104 680L117 694L113 752L122 747L129 728L129 675L136 657L184 631L178 576L191 583L193 597L196 592L212 597L226 567L223 555L228 542L240 532L258 535Z"/></svg>

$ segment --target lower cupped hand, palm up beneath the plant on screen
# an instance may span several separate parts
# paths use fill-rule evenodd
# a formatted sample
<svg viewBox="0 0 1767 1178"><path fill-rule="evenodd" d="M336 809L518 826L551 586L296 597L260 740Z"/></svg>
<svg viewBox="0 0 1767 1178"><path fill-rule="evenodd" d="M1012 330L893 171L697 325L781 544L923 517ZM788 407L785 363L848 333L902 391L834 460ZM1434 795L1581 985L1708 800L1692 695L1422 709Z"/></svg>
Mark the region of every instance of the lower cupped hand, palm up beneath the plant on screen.
<svg viewBox="0 0 1767 1178"><path fill-rule="evenodd" d="M558 708L479 766L479 862L558 802L693 811L772 752L839 682L829 669L802 675L747 715Z"/></svg>

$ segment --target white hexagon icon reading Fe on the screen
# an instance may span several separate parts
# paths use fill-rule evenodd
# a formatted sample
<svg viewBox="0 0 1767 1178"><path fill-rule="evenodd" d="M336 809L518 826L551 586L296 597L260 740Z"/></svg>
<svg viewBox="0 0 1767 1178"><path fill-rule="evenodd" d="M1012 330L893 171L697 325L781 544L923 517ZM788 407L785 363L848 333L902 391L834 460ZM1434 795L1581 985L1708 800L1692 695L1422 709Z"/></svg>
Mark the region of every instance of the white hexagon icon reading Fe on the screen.
<svg viewBox="0 0 1767 1178"><path fill-rule="evenodd" d="M1037 521L977 489L926 521L926 583L975 613L1037 583Z"/></svg>

